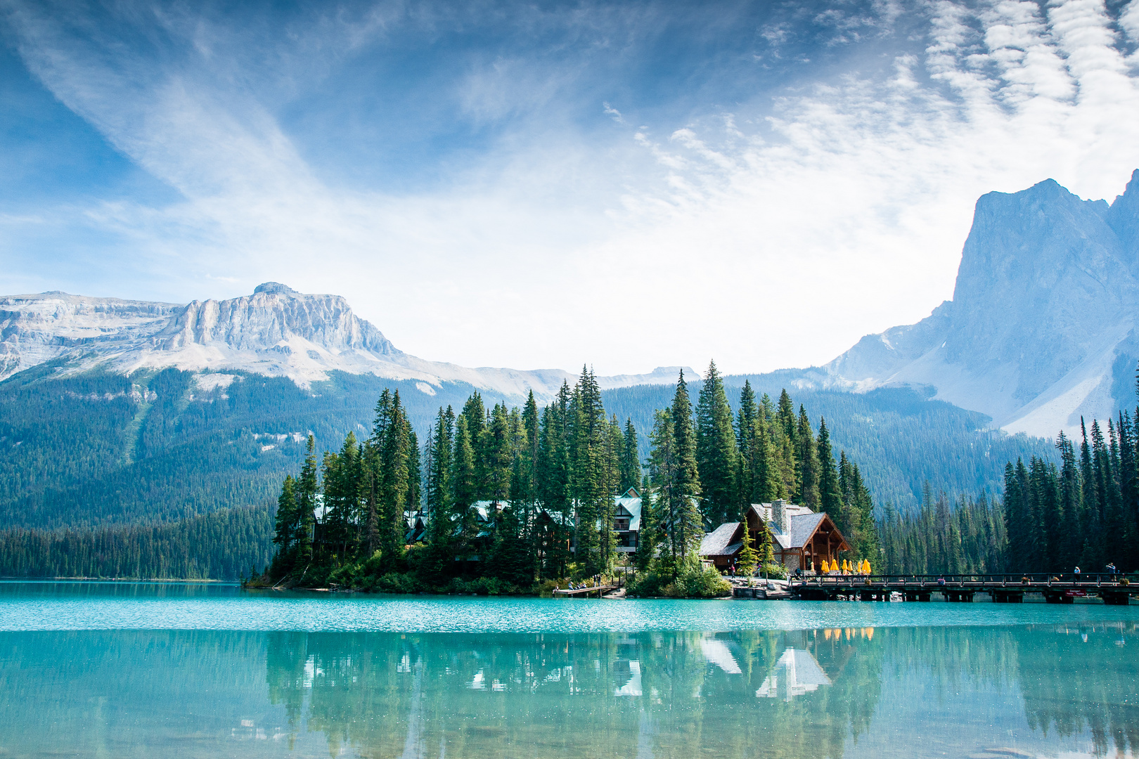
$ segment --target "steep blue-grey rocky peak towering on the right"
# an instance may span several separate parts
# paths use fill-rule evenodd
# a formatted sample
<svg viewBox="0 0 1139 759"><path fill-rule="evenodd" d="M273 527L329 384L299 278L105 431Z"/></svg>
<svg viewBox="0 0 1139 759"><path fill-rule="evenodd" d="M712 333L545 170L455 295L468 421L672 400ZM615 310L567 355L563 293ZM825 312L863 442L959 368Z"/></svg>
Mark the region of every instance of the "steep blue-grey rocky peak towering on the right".
<svg viewBox="0 0 1139 759"><path fill-rule="evenodd" d="M1052 180L976 206L952 302L827 365L855 387L929 385L1009 431L1054 436L1134 404L1139 171L1108 205Z"/></svg>

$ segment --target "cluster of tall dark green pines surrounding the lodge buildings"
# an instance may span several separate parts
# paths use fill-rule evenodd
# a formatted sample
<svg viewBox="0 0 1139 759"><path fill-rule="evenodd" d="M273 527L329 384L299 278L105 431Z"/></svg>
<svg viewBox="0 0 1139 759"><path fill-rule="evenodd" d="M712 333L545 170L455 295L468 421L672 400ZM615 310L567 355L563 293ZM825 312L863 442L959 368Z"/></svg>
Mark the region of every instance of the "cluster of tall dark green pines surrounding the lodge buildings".
<svg viewBox="0 0 1139 759"><path fill-rule="evenodd" d="M350 432L320 456L309 439L256 581L528 593L622 566L645 593L715 595L726 586L699 562L705 531L777 498L830 514L860 559L879 558L858 464L836 459L826 420L813 424L786 391L757 398L745 383L734 414L714 363L695 403L681 373L648 438L642 464L637 429L607 414L588 369L541 409L533 394L487 409L478 393L440 407L421 446L399 391L385 390L368 439ZM641 497L631 566L613 529L630 488Z"/></svg>

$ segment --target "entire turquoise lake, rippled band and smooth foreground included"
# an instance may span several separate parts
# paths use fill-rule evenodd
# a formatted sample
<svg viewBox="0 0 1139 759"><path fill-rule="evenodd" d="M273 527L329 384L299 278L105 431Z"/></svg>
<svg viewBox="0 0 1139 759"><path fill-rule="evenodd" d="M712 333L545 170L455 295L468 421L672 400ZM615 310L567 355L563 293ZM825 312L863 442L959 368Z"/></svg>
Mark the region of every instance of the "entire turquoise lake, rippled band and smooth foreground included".
<svg viewBox="0 0 1139 759"><path fill-rule="evenodd" d="M1075 757L1139 607L0 583L0 757Z"/></svg>

